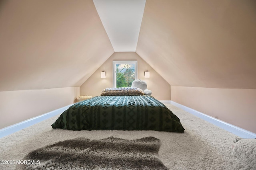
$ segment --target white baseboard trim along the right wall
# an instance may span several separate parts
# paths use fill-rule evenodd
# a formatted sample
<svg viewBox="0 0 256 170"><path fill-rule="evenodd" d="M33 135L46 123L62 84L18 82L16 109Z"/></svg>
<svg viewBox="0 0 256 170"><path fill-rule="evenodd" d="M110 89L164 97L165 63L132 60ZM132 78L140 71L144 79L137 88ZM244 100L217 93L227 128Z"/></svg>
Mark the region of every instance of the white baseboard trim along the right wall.
<svg viewBox="0 0 256 170"><path fill-rule="evenodd" d="M256 134L252 133L250 131L247 131L245 129L242 129L240 127L234 126L230 123L226 123L224 121L221 121L219 119L216 119L215 117L206 115L204 113L201 113L199 111L196 111L194 109L191 109L190 107L184 106L182 104L178 104L176 102L171 101L170 102L172 105L179 107L180 109L183 109L193 115L196 115L197 117L200 117L201 119L204 119L218 127L221 127L222 129L225 129L226 131L229 131L231 133L234 133L235 135L242 137L242 138L246 138L246 139L255 139L256 138Z"/></svg>

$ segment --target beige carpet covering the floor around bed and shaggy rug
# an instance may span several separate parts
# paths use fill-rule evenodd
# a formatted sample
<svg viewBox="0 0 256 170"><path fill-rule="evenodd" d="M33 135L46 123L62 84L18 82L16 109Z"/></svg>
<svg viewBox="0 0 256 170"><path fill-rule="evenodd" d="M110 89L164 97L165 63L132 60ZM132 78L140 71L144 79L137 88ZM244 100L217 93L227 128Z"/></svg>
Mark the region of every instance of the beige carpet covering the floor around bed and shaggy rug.
<svg viewBox="0 0 256 170"><path fill-rule="evenodd" d="M139 139L156 137L161 141L159 158L170 170L246 170L256 169L233 154L238 136L212 125L178 107L166 104L176 114L185 133L158 131L68 131L51 129L58 118L52 117L36 125L0 139L1 160L22 160L28 152L66 139L86 137L103 139L118 137ZM16 169L16 164L0 164L1 170Z"/></svg>

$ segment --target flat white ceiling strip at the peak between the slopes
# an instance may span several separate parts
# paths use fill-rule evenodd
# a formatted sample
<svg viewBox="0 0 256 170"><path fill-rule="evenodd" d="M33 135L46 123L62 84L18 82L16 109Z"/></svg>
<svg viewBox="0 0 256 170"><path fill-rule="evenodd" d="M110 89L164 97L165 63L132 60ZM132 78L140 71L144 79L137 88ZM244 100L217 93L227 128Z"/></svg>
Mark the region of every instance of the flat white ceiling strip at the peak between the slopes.
<svg viewBox="0 0 256 170"><path fill-rule="evenodd" d="M93 0L115 52L136 51L146 0Z"/></svg>

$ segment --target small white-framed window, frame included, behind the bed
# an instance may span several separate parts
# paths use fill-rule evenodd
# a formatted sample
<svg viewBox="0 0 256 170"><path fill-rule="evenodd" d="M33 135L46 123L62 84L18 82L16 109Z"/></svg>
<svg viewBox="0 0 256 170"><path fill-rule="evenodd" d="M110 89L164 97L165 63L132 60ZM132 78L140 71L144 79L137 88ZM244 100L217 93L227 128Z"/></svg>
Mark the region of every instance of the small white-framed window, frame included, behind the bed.
<svg viewBox="0 0 256 170"><path fill-rule="evenodd" d="M137 80L137 61L113 61L114 88L131 87Z"/></svg>

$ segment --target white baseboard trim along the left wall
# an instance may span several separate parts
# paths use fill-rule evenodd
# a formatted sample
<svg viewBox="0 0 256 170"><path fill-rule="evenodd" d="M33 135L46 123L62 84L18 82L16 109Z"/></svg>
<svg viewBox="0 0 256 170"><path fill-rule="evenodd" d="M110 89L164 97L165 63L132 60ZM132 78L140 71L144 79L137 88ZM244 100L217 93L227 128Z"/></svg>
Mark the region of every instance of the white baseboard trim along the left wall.
<svg viewBox="0 0 256 170"><path fill-rule="evenodd" d="M16 123L14 125L10 125L8 127L4 127L2 129L0 129L0 138L5 137L7 135L10 135L10 134L12 134L14 132L20 131L20 130L26 128L26 127L29 127L29 126L34 125L36 123L39 123L40 121L46 120L46 119L48 119L50 117L53 117L55 115L58 115L58 114L62 113L63 111L65 111L66 109L68 109L72 105L73 104L70 104L68 106L61 107L59 109L56 109L54 111L50 111L48 113L44 113L42 115L33 117L31 119L22 121L20 123Z"/></svg>

